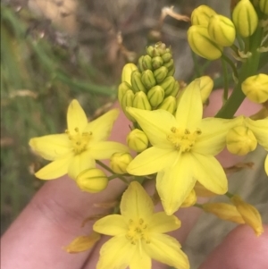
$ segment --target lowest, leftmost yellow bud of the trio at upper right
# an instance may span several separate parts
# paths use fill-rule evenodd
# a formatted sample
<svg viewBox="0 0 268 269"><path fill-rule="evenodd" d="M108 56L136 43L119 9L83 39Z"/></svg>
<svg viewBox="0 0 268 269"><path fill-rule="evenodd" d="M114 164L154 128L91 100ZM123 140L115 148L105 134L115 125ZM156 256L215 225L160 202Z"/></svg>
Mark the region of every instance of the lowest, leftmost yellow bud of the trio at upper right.
<svg viewBox="0 0 268 269"><path fill-rule="evenodd" d="M207 60L216 60L222 56L222 46L214 43L205 26L193 25L187 35L188 44L197 55Z"/></svg>

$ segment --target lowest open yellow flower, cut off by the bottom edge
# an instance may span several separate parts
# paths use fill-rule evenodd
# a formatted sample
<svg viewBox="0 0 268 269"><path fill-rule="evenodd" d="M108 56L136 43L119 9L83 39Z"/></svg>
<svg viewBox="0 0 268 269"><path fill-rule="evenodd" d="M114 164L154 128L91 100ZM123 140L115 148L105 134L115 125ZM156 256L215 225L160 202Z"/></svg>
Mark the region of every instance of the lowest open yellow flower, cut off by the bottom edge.
<svg viewBox="0 0 268 269"><path fill-rule="evenodd" d="M188 257L180 243L164 232L180 228L174 215L154 213L154 204L137 181L130 183L121 198L121 215L96 221L93 230L113 236L100 249L96 269L150 269L151 258L180 269L188 269Z"/></svg>

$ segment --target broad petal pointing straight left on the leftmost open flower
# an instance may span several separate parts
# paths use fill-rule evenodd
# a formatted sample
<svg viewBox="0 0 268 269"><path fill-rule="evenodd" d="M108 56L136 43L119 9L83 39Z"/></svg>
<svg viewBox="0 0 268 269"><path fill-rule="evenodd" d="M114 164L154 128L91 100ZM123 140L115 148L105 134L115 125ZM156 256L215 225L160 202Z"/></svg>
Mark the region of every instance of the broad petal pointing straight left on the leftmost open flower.
<svg viewBox="0 0 268 269"><path fill-rule="evenodd" d="M66 134L48 135L29 140L29 146L44 159L54 161L71 152L71 141Z"/></svg>

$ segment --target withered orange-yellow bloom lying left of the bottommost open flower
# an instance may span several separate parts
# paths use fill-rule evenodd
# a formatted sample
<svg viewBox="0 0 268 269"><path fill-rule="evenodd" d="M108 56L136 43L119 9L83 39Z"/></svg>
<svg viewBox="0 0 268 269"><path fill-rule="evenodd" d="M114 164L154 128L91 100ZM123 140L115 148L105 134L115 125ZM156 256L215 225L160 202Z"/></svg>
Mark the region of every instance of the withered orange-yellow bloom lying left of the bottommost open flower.
<svg viewBox="0 0 268 269"><path fill-rule="evenodd" d="M64 249L68 253L79 253L92 248L98 240L100 240L100 234L93 231L88 236L80 236L71 241L71 243Z"/></svg>

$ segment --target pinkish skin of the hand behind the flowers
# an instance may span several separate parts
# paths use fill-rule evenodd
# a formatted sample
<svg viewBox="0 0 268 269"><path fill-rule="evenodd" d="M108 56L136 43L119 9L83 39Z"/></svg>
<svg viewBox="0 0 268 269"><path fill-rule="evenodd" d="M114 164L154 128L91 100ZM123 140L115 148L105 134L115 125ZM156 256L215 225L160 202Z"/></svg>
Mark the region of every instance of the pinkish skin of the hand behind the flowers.
<svg viewBox="0 0 268 269"><path fill-rule="evenodd" d="M214 115L219 108L218 93L213 93L205 116ZM248 101L239 109L239 113L250 115L257 106ZM250 107L250 109L248 109ZM244 110L244 111L243 111ZM121 113L115 123L111 140L125 142L129 131L127 119ZM117 132L116 130L120 130ZM223 166L235 164L236 158L223 153L219 156ZM153 186L145 188L149 193ZM29 205L13 222L1 240L1 268L3 269L91 269L96 268L99 248L107 237L102 237L95 248L80 254L68 254L63 250L74 238L87 235L92 231L88 222L81 228L81 222L89 215L107 214L108 208L102 203L113 202L125 189L121 181L111 181L105 191L98 194L82 193L67 176L55 181L47 181L38 191ZM202 202L202 201L201 201ZM98 204L98 206L97 206ZM157 206L157 209L160 209ZM188 232L197 222L202 210L192 207L180 209L176 214L181 220L181 227L172 232L180 243L187 239ZM230 232L222 243L207 257L200 269L263 269L268 268L268 226L264 225L264 234L255 237L247 225L240 225ZM166 265L153 263L154 269L168 268Z"/></svg>

